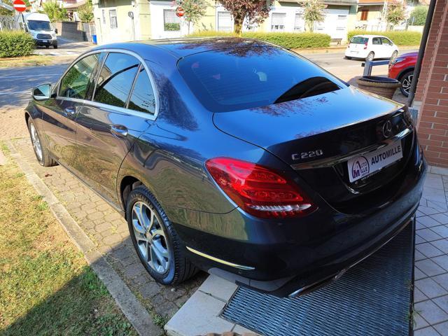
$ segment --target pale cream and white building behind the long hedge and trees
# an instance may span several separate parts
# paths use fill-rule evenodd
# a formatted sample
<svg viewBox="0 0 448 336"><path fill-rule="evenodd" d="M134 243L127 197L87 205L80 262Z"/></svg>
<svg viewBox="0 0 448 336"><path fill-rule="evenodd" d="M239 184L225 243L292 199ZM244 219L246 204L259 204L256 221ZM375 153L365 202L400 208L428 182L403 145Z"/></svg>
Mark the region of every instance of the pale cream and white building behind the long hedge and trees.
<svg viewBox="0 0 448 336"><path fill-rule="evenodd" d="M233 31L232 15L218 1L208 0L207 3L206 14L195 27L190 27L190 32ZM325 21L316 24L314 31L346 39L347 31L356 23L358 0L325 0L324 3ZM175 38L189 33L185 20L176 16L173 1L93 0L93 4L99 43ZM304 31L303 8L297 0L275 1L269 18L258 27L244 25L244 31L247 30Z"/></svg>

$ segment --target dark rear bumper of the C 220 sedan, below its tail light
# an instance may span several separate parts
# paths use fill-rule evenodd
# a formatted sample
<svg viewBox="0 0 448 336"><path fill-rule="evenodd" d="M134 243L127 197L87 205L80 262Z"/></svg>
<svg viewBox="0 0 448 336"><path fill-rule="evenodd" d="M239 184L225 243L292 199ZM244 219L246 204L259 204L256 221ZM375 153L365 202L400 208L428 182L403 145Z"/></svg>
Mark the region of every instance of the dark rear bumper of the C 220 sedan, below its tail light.
<svg viewBox="0 0 448 336"><path fill-rule="evenodd" d="M337 279L405 228L419 205L425 170L414 146L399 188L362 214L342 214L324 204L289 221L260 220L235 209L208 214L207 223L199 214L195 223L174 223L189 258L207 272L274 295L302 294Z"/></svg>

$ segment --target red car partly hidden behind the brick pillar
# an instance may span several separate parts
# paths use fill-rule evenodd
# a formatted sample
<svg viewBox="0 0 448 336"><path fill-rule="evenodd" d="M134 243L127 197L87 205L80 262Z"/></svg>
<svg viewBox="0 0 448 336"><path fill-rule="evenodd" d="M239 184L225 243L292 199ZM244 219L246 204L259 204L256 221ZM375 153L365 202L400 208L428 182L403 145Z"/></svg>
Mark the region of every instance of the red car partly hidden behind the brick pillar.
<svg viewBox="0 0 448 336"><path fill-rule="evenodd" d="M409 90L411 88L412 77L414 77L414 68L417 60L418 52L409 52L407 54L400 55L395 59L391 59L389 63L390 78L395 78L401 82L401 93L406 97L409 96Z"/></svg>

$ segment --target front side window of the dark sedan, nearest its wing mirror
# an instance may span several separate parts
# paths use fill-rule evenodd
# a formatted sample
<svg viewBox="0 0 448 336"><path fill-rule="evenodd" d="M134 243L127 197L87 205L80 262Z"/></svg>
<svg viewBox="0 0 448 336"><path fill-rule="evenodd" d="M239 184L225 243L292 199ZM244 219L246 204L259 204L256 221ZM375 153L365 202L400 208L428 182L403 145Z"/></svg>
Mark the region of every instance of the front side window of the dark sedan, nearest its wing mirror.
<svg viewBox="0 0 448 336"><path fill-rule="evenodd" d="M61 80L59 97L84 99L99 53L84 57L71 66Z"/></svg>

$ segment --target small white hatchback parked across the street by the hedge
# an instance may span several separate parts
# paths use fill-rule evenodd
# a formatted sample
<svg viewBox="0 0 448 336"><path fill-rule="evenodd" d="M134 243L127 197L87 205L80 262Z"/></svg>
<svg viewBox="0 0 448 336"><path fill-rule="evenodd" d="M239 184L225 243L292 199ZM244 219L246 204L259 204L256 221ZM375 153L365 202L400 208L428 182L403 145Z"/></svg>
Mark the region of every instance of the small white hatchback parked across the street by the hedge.
<svg viewBox="0 0 448 336"><path fill-rule="evenodd" d="M398 55L398 47L385 36L356 35L350 40L345 50L345 58L364 58L372 61L375 58L394 59Z"/></svg>

